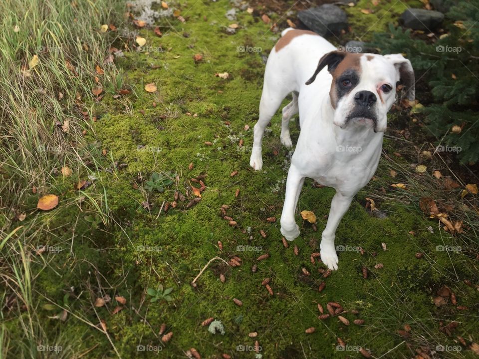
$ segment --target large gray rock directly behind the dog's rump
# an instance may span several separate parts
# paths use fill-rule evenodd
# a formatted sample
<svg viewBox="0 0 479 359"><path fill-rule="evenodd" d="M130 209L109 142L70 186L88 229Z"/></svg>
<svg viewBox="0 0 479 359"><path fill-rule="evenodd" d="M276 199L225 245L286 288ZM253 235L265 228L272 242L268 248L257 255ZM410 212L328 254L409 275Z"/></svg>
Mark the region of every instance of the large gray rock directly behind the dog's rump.
<svg viewBox="0 0 479 359"><path fill-rule="evenodd" d="M310 30L321 36L331 35L332 33L339 34L341 30L348 26L346 12L332 4L324 4L299 11L298 18Z"/></svg>

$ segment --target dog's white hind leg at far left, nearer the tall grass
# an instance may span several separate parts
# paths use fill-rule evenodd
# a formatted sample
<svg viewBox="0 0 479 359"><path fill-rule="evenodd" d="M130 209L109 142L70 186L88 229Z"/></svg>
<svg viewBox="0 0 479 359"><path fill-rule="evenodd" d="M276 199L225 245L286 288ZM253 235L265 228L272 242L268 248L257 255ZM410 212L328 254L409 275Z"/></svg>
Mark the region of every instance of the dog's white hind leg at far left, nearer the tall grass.
<svg viewBox="0 0 479 359"><path fill-rule="evenodd" d="M256 125L254 125L253 146L251 150L251 158L249 159L249 166L254 170L261 170L263 167L263 160L261 156L261 145L263 141L264 129L268 125L271 117L276 113L281 105L281 101L286 97L289 90L284 86L268 86L265 79L263 85L263 92L261 93L261 100L259 101L259 118Z"/></svg>

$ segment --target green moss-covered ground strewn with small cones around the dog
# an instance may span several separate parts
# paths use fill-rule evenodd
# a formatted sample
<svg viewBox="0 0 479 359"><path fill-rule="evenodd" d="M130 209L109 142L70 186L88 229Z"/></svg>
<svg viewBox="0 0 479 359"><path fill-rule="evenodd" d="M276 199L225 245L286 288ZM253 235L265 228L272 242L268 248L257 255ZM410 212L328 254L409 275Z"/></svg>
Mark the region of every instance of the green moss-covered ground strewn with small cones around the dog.
<svg viewBox="0 0 479 359"><path fill-rule="evenodd" d="M228 1L176 4L185 22L174 17L160 20L162 37L150 27L137 29L151 51L124 51L115 59L125 73L122 88L131 93L113 98L115 89L105 89L105 97L94 107L95 133L87 134L87 139L101 142L92 151L97 162L105 167L115 161L128 166L98 172L82 191L72 192L69 180L59 183L58 193L64 193L60 205L36 219L48 223L50 233L39 243L63 248L44 253L31 265L38 316L50 338L48 344L63 346L64 358L80 358L79 354L81 358L185 358L192 347L202 358L220 358L223 353L254 358L256 340L263 358L359 358L357 347L369 349L375 358L411 358L420 344L431 350L436 345L460 346L458 335L468 343L477 340L479 295L463 283L477 280L477 264L467 255L438 251L438 245L454 245L455 239L414 204L384 203L379 208L383 215L373 215L365 209L365 198L370 197L366 186L337 230L336 244L347 249L339 253L339 270L324 279L318 272L324 267L311 264L310 254L319 251L334 191L306 180L297 213L301 235L288 248L283 246L279 217L290 153L279 142L279 112L263 141L263 171L253 172L248 165L264 69L261 55L267 55L279 33L247 11L238 11L237 20L229 21L225 13L231 6ZM354 28L358 20L351 9ZM284 19L272 16L273 22L279 20ZM239 25L235 34L227 31L232 23ZM241 51L244 48L257 51ZM202 59L195 62L195 54ZM229 78L215 76L224 72ZM152 82L157 91L146 92L145 84ZM297 124L291 129L294 143ZM103 149L106 156L100 153ZM387 164L381 166L380 176L387 177ZM238 175L231 177L234 171ZM153 172L172 172L177 177L164 192L148 191L144 188ZM200 187L191 179L200 175L206 175L207 188L201 201L187 208L195 197L191 186ZM174 201L175 190L187 195L186 200L160 213L165 201ZM89 198L90 192L104 195ZM32 205L36 199L33 196ZM77 205L62 206L71 202ZM105 225L100 216L91 214L93 202L116 222ZM229 206L227 215L236 226L223 218L222 205ZM317 231L300 218L299 211L305 209L316 214ZM273 216L275 222L266 220ZM77 221L74 233L71 221ZM294 245L298 255L293 253ZM363 255L354 250L358 246ZM416 258L417 252L424 257ZM257 262L264 253L269 258ZM197 287L191 285L210 259L218 256L228 261L234 255L241 258L241 266L216 260L197 280ZM384 267L375 269L378 263ZM255 273L253 265L257 265ZM369 269L367 279L362 276L363 266ZM303 274L303 267L310 276ZM221 273L225 283L219 279ZM265 277L271 278L274 295L261 286ZM322 281L326 287L318 292ZM147 289L159 284L173 288L172 300L150 303ZM436 307L433 297L443 285L469 309L460 311L451 303ZM105 294L111 302L94 307L95 299ZM125 297L127 303L118 304L115 296ZM51 318L58 310L52 311L45 297L68 308L71 314L66 321ZM233 298L240 299L242 306ZM317 304L326 310L331 301L349 311L344 314L349 326L337 317L317 318ZM123 309L113 313L117 305ZM223 323L224 335L213 335L201 326L210 317ZM356 318L364 319L364 324L353 324ZM100 320L111 343L99 330ZM452 336L439 331L453 320L460 325ZM173 332L167 343L159 335L162 323L166 333ZM19 334L15 322L10 324L10 334ZM398 333L405 325L411 327L407 336ZM315 332L306 334L309 327ZM250 332L257 332L257 337L248 337ZM348 345L345 351L337 349L338 337ZM155 347L154 351L138 351L142 345ZM435 358L474 356L462 349Z"/></svg>

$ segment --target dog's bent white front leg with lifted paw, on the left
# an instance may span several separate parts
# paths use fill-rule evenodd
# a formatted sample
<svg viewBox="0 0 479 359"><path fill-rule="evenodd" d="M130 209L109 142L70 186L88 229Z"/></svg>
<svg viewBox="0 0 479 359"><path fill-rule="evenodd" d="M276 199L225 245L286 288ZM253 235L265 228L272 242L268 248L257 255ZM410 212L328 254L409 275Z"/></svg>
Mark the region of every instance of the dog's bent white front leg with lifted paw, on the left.
<svg viewBox="0 0 479 359"><path fill-rule="evenodd" d="M286 180L286 195L281 213L281 234L289 241L299 235L299 227L294 220L294 211L298 202L299 193L303 186L304 177L291 164Z"/></svg>

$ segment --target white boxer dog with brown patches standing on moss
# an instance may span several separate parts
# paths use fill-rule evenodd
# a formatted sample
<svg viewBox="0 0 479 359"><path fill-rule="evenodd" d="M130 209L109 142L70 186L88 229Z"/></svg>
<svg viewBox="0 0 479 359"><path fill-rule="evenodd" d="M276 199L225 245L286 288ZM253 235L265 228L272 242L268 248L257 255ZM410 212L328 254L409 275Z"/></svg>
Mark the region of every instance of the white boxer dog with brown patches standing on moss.
<svg viewBox="0 0 479 359"><path fill-rule="evenodd" d="M294 213L305 177L335 188L320 249L322 261L336 270L336 228L354 195L376 171L386 114L396 101L399 80L414 100L414 72L401 54L336 51L323 37L305 30L288 28L281 35L266 63L249 164L261 170L264 129L292 93L293 100L282 110L281 143L292 146L288 124L298 112L301 132L286 182L281 233L290 241L299 235Z"/></svg>

